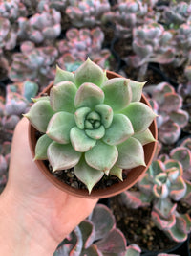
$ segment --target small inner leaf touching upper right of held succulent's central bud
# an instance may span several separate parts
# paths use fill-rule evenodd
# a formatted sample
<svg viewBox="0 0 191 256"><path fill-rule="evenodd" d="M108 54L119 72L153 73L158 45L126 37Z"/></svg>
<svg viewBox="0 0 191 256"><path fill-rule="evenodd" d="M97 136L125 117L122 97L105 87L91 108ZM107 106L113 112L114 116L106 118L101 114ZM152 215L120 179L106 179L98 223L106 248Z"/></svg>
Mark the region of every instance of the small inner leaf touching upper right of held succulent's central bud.
<svg viewBox="0 0 191 256"><path fill-rule="evenodd" d="M95 111L100 115L101 117L101 124L104 126L104 128L109 128L112 124L113 120L113 109L110 105L96 105Z"/></svg>

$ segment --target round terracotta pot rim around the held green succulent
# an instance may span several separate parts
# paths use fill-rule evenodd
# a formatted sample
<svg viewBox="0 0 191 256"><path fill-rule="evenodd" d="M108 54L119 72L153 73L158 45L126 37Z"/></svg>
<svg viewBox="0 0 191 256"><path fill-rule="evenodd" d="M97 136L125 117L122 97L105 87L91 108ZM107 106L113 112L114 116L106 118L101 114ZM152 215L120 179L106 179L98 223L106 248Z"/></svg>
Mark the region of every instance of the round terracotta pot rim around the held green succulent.
<svg viewBox="0 0 191 256"><path fill-rule="evenodd" d="M112 78L120 78L121 76L118 75L115 72L107 71L107 77L108 79ZM44 93L50 92L50 89L53 87L53 83L51 83L47 88L43 90L43 92L40 94L40 96ZM149 102L146 100L144 95L141 97L141 102L149 105ZM157 124L156 121L153 121L151 126L149 127L154 138L157 139L158 137L158 130L157 130ZM29 125L29 143L32 151L32 155L34 156L34 149L36 145L36 129L32 127L32 125ZM138 166L136 168L131 169L127 172L127 178L125 178L123 181L120 181L119 183L113 184L111 187L107 187L104 189L93 189L91 192L91 195L88 194L88 190L86 189L76 189L71 187L70 185L67 185L66 183L58 180L56 177L53 176L52 173L48 170L45 163L41 160L36 160L35 163L38 166L39 170L47 176L47 178L59 189L65 191L68 194L71 194L76 197L80 198L109 198L116 196L117 194L121 193L124 190L127 190L131 188L137 181L138 178L140 178L141 175L143 175L148 167L150 166L155 150L157 147L157 142L152 142L147 145L145 145L144 148L144 154L145 154L145 163L146 167L144 166Z"/></svg>

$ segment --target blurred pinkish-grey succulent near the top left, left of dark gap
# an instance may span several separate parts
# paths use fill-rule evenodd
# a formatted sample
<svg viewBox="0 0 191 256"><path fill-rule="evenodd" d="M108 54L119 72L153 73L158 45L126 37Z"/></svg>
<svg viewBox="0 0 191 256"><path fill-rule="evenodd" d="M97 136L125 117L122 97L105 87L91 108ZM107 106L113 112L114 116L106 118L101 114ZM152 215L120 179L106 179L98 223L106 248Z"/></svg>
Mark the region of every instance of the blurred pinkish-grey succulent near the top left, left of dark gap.
<svg viewBox="0 0 191 256"><path fill-rule="evenodd" d="M42 43L55 39L61 33L61 14L55 9L44 6L41 13L35 13L29 19L18 18L18 37L22 40L31 40Z"/></svg>

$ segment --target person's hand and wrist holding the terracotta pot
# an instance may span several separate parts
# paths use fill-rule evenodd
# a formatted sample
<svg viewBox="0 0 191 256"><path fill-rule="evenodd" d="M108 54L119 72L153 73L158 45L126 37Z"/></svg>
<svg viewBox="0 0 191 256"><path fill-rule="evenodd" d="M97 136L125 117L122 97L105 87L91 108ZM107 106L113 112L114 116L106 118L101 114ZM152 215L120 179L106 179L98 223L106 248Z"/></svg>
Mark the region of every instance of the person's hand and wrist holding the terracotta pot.
<svg viewBox="0 0 191 256"><path fill-rule="evenodd" d="M38 170L28 144L28 120L23 118L14 131L9 180L0 197L1 237L6 240L10 232L7 254L2 252L5 244L1 241L0 255L53 255L56 246L91 213L96 202L66 194ZM7 227L2 223L6 220L10 223ZM15 247L11 235L17 240L20 235L20 245Z"/></svg>

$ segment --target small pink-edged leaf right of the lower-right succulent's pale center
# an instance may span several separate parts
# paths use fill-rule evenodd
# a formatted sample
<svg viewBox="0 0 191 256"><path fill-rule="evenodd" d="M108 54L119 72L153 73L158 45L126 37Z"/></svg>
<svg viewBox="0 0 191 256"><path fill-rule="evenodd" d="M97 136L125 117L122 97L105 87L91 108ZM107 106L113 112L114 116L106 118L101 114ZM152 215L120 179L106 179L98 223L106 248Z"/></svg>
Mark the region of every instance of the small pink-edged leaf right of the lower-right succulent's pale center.
<svg viewBox="0 0 191 256"><path fill-rule="evenodd" d="M185 196L186 193L186 184L181 176L179 176L175 183L171 185L170 197L179 201L181 198Z"/></svg>

